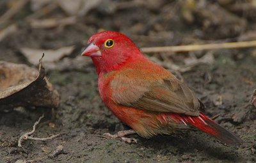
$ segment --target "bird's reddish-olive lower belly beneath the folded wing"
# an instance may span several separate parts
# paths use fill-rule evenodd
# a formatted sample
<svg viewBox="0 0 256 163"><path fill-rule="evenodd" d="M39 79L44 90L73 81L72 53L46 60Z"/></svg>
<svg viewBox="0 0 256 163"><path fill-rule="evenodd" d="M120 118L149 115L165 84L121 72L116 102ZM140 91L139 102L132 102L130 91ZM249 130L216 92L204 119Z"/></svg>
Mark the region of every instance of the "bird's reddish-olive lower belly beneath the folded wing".
<svg viewBox="0 0 256 163"><path fill-rule="evenodd" d="M140 136L150 138L157 134L173 134L184 127L172 119L163 122L159 119L159 114L139 110L132 107L120 106L115 103L105 103L109 110L124 124L129 125Z"/></svg>

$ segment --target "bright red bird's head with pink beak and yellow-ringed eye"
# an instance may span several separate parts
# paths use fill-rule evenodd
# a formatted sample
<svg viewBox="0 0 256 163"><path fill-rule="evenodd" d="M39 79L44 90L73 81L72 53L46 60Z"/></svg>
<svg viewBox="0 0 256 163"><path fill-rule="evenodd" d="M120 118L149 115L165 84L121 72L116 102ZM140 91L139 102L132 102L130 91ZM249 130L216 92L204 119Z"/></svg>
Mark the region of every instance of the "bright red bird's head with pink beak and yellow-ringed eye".
<svg viewBox="0 0 256 163"><path fill-rule="evenodd" d="M87 44L82 55L92 58L98 74L120 69L127 62L145 59L131 39L120 32L99 32Z"/></svg>

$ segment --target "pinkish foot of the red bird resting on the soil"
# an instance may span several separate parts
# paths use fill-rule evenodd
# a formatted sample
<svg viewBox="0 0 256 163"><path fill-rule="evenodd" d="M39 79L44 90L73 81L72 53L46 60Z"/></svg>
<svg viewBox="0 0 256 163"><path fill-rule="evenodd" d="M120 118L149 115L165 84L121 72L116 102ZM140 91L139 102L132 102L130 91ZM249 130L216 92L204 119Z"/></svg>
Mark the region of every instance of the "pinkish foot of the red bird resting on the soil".
<svg viewBox="0 0 256 163"><path fill-rule="evenodd" d="M135 142L137 143L137 140L135 138L126 138L126 135L129 134L135 134L136 132L134 130L125 130L125 131L119 131L116 134L110 134L110 133L105 133L103 134L103 136L106 136L108 138L121 138L122 140L124 140L127 143L132 143Z"/></svg>

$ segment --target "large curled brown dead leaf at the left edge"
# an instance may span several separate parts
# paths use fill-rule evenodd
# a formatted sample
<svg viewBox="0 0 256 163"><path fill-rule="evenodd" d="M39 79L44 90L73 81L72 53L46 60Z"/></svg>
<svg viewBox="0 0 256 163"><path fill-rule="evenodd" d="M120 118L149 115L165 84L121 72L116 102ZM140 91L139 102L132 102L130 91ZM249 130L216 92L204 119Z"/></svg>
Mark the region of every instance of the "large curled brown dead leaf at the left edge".
<svg viewBox="0 0 256 163"><path fill-rule="evenodd" d="M24 64L0 61L0 79L0 110L17 106L58 107L60 95L45 78L42 59L39 72Z"/></svg>

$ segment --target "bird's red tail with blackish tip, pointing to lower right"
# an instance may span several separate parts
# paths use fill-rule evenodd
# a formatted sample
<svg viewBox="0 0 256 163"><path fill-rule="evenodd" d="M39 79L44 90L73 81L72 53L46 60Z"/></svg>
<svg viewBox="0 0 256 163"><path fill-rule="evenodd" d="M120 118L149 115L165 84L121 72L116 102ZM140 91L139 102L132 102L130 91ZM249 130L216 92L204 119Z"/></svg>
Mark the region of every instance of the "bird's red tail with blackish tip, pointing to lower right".
<svg viewBox="0 0 256 163"><path fill-rule="evenodd" d="M210 134L211 136L214 136L221 142L228 145L237 145L243 142L242 139L239 138L239 136L237 136L233 132L227 131L219 124L211 120L211 118L204 115L204 113L200 113L199 116L180 116L179 114L172 114L171 116L176 122L181 121L184 124L193 125L194 127L206 132L207 134Z"/></svg>

